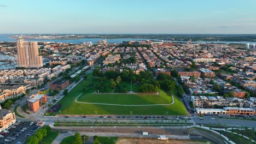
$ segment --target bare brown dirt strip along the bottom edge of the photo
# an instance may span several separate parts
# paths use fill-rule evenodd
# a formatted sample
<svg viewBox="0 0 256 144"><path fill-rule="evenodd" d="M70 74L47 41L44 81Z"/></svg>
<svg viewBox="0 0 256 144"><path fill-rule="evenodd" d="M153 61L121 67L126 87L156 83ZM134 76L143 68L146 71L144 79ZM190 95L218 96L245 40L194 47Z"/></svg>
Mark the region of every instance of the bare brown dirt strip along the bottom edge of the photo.
<svg viewBox="0 0 256 144"><path fill-rule="evenodd" d="M159 143L165 143L165 144L202 144L202 143L209 143L206 141L160 141L160 140L135 140L135 139L120 139L117 141L117 144L159 144Z"/></svg>

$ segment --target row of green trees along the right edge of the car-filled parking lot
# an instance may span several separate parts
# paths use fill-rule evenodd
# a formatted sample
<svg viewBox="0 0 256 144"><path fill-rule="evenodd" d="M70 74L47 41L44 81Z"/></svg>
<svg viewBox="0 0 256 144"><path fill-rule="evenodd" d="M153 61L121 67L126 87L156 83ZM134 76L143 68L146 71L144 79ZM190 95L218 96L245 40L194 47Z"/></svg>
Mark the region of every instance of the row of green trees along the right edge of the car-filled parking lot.
<svg viewBox="0 0 256 144"><path fill-rule="evenodd" d="M49 126L42 127L36 133L34 133L33 136L28 137L27 144L38 144L41 140L43 140L43 137L47 136L47 134L51 131L51 128Z"/></svg>

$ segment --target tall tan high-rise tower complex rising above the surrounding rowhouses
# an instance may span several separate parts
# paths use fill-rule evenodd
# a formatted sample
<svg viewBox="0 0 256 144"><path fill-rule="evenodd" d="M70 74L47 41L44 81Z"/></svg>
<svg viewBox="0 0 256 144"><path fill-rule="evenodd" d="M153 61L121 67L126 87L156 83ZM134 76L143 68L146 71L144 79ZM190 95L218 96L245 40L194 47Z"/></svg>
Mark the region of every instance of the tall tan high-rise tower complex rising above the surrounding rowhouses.
<svg viewBox="0 0 256 144"><path fill-rule="evenodd" d="M18 39L18 67L40 68L43 67L43 58L39 56L38 44L35 41L24 41Z"/></svg>

